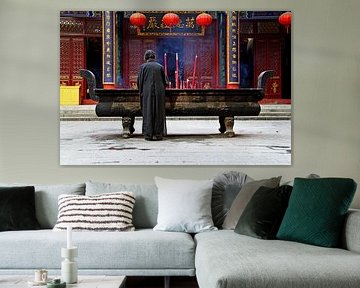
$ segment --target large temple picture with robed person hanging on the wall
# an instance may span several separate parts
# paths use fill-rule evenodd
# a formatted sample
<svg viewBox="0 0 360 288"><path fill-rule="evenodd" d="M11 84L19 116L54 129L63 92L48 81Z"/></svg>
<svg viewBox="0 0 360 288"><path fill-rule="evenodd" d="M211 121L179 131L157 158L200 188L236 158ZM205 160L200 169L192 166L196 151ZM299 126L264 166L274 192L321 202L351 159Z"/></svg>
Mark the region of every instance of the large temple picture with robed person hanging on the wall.
<svg viewBox="0 0 360 288"><path fill-rule="evenodd" d="M60 164L291 165L291 17L61 11Z"/></svg>

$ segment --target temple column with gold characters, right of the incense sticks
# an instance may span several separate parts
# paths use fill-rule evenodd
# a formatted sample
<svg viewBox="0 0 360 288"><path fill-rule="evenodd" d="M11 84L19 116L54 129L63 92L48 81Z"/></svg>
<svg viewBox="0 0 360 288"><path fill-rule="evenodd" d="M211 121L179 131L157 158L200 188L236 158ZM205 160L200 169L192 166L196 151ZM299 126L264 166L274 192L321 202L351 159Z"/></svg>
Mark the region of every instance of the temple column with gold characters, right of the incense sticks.
<svg viewBox="0 0 360 288"><path fill-rule="evenodd" d="M237 89L240 84L239 15L237 11L227 12L226 30L226 87Z"/></svg>

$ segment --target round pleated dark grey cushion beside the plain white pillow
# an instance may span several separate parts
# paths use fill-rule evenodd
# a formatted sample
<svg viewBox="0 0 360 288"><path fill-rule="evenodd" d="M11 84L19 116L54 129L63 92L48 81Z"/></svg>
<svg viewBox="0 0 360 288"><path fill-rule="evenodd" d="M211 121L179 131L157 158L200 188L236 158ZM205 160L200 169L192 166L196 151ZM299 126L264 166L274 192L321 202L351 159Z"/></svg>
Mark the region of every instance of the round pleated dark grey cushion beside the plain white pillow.
<svg viewBox="0 0 360 288"><path fill-rule="evenodd" d="M222 172L214 177L212 189L211 214L214 225L222 227L231 204L241 190L241 187L253 179L238 171Z"/></svg>

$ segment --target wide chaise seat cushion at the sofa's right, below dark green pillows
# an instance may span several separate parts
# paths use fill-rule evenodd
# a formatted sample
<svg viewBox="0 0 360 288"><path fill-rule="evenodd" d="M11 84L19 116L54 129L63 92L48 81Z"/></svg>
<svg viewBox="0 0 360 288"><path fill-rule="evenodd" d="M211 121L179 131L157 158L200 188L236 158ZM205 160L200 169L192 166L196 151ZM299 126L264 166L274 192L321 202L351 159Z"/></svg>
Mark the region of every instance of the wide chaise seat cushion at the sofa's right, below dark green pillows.
<svg viewBox="0 0 360 288"><path fill-rule="evenodd" d="M195 236L200 288L358 287L360 254L221 230Z"/></svg>

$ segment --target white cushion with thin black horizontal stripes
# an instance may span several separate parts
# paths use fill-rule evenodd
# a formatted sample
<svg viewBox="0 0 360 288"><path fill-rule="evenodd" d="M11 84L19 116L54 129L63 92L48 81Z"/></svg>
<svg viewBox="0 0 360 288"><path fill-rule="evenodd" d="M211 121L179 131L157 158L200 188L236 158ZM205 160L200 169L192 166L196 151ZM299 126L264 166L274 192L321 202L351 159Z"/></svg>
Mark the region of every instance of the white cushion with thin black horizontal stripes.
<svg viewBox="0 0 360 288"><path fill-rule="evenodd" d="M59 214L55 231L72 226L75 231L133 231L132 192L105 193L94 196L63 194L59 196Z"/></svg>

